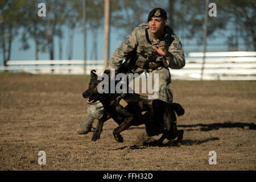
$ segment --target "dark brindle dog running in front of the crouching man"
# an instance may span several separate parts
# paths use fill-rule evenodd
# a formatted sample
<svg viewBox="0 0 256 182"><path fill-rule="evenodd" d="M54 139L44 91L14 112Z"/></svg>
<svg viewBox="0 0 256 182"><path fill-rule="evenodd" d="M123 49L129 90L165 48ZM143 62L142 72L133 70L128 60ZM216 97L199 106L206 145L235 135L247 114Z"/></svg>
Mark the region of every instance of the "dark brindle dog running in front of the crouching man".
<svg viewBox="0 0 256 182"><path fill-rule="evenodd" d="M94 130L92 140L100 139L100 134L105 121L113 118L118 123L118 127L114 129L113 135L117 142L123 142L120 133L130 126L139 126L145 124L148 136L163 134L157 140L162 143L165 138L168 140L177 137L177 144L180 144L183 138L183 130L177 130L176 115L183 115L184 109L179 104L167 104L160 100L145 100L138 94L100 94L97 86L101 82L97 80L95 70L90 72L89 88L82 96L89 98L88 104L100 101L104 105L105 113L98 119L97 127ZM127 102L127 106L123 107L119 101L123 99ZM142 104L139 105L138 103ZM164 108L164 109L162 109Z"/></svg>

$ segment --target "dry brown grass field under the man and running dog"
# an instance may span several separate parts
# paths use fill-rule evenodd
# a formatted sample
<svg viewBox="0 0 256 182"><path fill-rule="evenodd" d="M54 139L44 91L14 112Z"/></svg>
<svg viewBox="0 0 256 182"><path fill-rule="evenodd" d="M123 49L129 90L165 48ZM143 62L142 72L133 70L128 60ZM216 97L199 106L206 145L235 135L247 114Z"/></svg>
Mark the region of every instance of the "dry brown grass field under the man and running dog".
<svg viewBox="0 0 256 182"><path fill-rule="evenodd" d="M174 102L185 114L180 147L148 143L144 125L123 131L117 143L112 119L100 140L77 135L86 117L82 92L88 76L0 73L0 170L255 170L256 81L174 80ZM96 123L94 123L95 126ZM46 152L46 165L38 152ZM210 165L209 151L217 164Z"/></svg>

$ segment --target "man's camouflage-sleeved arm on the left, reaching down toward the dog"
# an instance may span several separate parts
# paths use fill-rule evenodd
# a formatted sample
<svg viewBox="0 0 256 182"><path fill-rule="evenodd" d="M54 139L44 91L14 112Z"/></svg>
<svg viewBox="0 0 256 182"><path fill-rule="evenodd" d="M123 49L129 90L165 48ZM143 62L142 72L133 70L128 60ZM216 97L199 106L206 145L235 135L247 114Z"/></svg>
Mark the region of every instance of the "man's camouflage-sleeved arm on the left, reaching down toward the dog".
<svg viewBox="0 0 256 182"><path fill-rule="evenodd" d="M118 69L122 64L122 61L126 59L127 55L137 48L137 30L138 27L134 29L134 31L120 44L117 49L115 49L109 60L109 67L107 69Z"/></svg>

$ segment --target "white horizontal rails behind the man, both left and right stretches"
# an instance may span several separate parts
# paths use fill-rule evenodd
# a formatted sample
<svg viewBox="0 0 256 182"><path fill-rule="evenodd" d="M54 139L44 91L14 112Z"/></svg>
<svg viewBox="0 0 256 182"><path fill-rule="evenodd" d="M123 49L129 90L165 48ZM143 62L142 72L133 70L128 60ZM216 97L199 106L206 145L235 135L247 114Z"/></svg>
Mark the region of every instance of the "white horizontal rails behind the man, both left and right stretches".
<svg viewBox="0 0 256 182"><path fill-rule="evenodd" d="M256 52L207 52L205 54L203 80L256 80ZM0 71L30 72L36 74L89 75L90 70L104 70L103 60L39 60L7 61ZM203 53L186 55L182 69L170 69L172 79L199 80L203 66ZM85 71L86 70L86 71Z"/></svg>

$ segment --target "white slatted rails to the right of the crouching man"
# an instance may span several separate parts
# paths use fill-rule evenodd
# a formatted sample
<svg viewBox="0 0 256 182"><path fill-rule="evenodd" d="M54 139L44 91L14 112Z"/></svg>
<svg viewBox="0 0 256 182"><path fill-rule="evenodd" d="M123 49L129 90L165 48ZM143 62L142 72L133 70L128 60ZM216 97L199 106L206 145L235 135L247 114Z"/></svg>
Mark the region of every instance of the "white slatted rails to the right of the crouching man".
<svg viewBox="0 0 256 182"><path fill-rule="evenodd" d="M172 78L200 80L203 67L201 52L186 55L182 69L170 69ZM256 80L256 52L206 52L203 80Z"/></svg>

